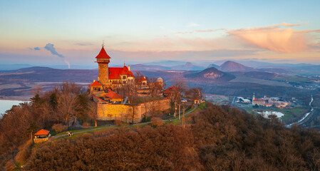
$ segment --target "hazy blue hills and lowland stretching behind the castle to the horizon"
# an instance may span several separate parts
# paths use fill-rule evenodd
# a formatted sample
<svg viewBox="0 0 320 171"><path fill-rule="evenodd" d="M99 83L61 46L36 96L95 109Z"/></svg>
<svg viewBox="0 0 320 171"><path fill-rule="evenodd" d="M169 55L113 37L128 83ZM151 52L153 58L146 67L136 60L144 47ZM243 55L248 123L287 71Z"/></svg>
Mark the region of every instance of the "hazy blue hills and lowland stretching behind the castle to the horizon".
<svg viewBox="0 0 320 171"><path fill-rule="evenodd" d="M301 90L292 89L293 86L309 86L313 83L313 78L299 76L299 74L293 72L282 74L290 71L281 68L252 68L233 61L226 61L221 66L216 67L201 69L201 67L192 63L184 63L184 65L179 66L137 64L130 68L134 74L135 71L140 71L148 78L161 77L167 86L170 86L175 80L182 79L190 87L201 86L208 93L227 95L242 95L252 92L259 92L263 95L279 92L280 89L285 90L286 93L289 91L296 92ZM195 71L196 69L197 71ZM29 67L0 71L0 98L26 96L24 99L29 99L32 88L35 86L42 86L43 90L51 90L63 81L76 82L86 89L97 77L97 69ZM279 89L279 87L281 88Z"/></svg>

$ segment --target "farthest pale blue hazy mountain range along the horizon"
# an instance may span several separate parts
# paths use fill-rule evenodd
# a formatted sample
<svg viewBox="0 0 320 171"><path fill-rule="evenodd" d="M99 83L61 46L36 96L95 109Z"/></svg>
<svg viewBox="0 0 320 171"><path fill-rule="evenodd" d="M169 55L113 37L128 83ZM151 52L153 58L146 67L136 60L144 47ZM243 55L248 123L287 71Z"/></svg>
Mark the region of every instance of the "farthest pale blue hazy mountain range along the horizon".
<svg viewBox="0 0 320 171"><path fill-rule="evenodd" d="M220 66L217 64L221 64ZM317 74L320 73L320 65L311 65L306 63L290 64L290 63L266 63L259 61L216 61L215 63L195 64L183 61L158 61L152 63L138 63L131 66L133 71L202 71L205 68L217 68L224 72L234 71L263 71L278 74L304 73ZM30 68L28 64L0 65L0 72L12 71L19 68ZM48 66L56 69L68 69L66 66ZM118 67L118 66L117 66ZM71 66L71 69L98 69L97 66Z"/></svg>

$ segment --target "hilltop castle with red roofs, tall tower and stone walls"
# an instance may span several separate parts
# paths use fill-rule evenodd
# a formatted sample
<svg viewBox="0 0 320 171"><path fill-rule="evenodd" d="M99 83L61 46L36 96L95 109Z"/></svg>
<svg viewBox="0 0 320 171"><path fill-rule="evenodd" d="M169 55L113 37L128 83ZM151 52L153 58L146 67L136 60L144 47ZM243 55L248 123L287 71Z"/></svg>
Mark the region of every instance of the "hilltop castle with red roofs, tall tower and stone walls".
<svg viewBox="0 0 320 171"><path fill-rule="evenodd" d="M109 68L110 56L102 46L96 56L98 63L98 81L94 80L89 86L93 100L97 103L98 120L121 120L123 122L138 123L144 116L153 115L155 110L162 113L170 109L170 100L158 98L158 100L145 100L150 95L151 88L158 86L163 88L162 78L156 82L148 83L145 76L136 78L130 71L130 66ZM116 93L124 85L134 86L135 92L120 95ZM160 97L160 91L158 90ZM125 97L126 96L126 97ZM140 98L143 103L128 103L128 96Z"/></svg>

